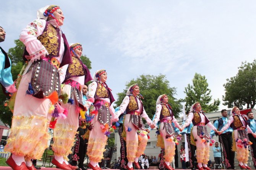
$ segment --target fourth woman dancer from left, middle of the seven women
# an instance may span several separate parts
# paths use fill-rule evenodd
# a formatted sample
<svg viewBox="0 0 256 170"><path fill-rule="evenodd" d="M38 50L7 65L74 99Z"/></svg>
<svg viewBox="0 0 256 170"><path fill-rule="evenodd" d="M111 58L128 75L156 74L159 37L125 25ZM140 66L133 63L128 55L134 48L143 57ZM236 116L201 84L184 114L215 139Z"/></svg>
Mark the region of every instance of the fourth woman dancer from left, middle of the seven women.
<svg viewBox="0 0 256 170"><path fill-rule="evenodd" d="M128 170L133 170L133 162L136 168L140 169L138 163L139 156L144 153L147 146L147 132L143 125L142 118L146 119L149 125L152 123L138 95L138 84L131 85L120 105L120 110L116 112L117 117L119 117L119 115L126 111L124 127L126 130L126 152L128 159L126 168Z"/></svg>

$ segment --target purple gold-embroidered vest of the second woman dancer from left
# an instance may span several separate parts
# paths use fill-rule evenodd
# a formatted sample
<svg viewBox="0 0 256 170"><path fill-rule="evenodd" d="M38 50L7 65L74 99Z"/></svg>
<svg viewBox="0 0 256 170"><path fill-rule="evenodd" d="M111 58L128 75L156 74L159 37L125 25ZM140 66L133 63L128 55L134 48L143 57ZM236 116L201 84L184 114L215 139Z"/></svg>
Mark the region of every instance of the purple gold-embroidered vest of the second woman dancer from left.
<svg viewBox="0 0 256 170"><path fill-rule="evenodd" d="M83 64L82 60L77 57L72 57L72 64L68 65L64 82L71 77L80 77L83 75L85 77L84 84L92 80L91 73L86 65Z"/></svg>

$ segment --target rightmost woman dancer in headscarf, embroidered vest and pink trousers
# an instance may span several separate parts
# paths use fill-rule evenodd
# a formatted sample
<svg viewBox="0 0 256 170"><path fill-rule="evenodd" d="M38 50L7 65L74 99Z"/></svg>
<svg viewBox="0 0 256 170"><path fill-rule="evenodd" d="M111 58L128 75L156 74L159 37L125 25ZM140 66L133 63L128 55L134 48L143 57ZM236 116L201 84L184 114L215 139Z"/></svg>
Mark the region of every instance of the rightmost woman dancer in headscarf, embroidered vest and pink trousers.
<svg viewBox="0 0 256 170"><path fill-rule="evenodd" d="M228 123L221 129L219 134L227 130L229 126L233 128L233 140L235 141L235 146L233 144L233 147L236 147L237 149L237 160L239 162L238 166L243 169L251 169L247 165L249 156L248 146L251 144L247 133L252 133L254 138L256 137L256 134L252 132L246 119L247 118L245 118L245 115L240 114L240 110L237 106L233 107L232 114L230 114L228 119Z"/></svg>

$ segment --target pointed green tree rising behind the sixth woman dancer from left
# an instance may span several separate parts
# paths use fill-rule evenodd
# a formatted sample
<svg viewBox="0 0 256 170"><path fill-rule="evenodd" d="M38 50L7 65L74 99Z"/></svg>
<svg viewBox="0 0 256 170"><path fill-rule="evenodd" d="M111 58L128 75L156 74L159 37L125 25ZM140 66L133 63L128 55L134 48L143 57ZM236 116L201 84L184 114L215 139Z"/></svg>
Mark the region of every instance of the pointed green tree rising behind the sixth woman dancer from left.
<svg viewBox="0 0 256 170"><path fill-rule="evenodd" d="M211 90L208 88L206 77L195 73L192 83L192 85L188 84L188 86L185 87L185 109L190 110L192 104L198 101L201 104L203 111L217 111L219 109L220 100L214 99L214 102L210 103L212 101L212 96L210 95Z"/></svg>

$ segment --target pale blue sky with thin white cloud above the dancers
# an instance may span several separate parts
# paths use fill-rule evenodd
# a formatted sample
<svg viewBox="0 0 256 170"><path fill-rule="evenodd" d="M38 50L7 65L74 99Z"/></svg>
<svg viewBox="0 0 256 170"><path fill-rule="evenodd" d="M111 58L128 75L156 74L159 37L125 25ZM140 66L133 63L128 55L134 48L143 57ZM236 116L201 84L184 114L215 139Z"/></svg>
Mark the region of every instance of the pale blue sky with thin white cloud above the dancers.
<svg viewBox="0 0 256 170"><path fill-rule="evenodd" d="M206 76L212 98L221 100L221 110L227 108L222 105L226 79L256 56L254 0L8 0L1 2L6 38L0 46L14 47L46 5L62 8L68 42L83 45L92 75L106 69L115 98L141 74L165 74L177 88L175 98L184 98L198 72Z"/></svg>

